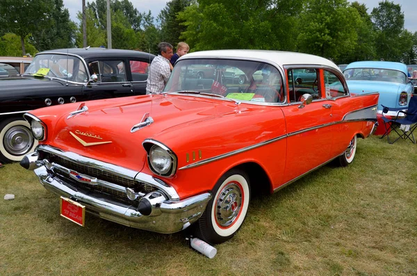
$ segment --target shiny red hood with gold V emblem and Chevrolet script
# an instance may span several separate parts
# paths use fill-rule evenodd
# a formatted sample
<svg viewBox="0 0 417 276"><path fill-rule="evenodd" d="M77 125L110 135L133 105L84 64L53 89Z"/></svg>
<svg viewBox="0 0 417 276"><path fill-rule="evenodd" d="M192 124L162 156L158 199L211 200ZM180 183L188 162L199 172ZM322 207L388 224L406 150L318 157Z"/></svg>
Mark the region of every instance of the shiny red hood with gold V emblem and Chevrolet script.
<svg viewBox="0 0 417 276"><path fill-rule="evenodd" d="M85 102L88 111L70 118L69 113L65 113L53 127L55 133L49 133L51 137L45 142L65 151L140 171L146 161L142 147L145 139L157 140L175 151L175 141L179 136L187 136L185 131L190 126L206 121L214 124L216 118L236 113L234 102L219 99L178 96L125 99L133 100L131 103L124 100L123 104L118 99ZM94 105L97 102L99 106ZM154 122L131 132L148 113Z"/></svg>

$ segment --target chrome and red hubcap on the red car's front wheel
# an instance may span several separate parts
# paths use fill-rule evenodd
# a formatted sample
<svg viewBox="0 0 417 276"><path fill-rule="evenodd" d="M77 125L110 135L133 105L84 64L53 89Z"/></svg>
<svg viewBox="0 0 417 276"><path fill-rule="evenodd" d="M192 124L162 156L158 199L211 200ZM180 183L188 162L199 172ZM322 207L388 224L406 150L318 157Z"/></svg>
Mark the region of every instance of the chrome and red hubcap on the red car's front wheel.
<svg viewBox="0 0 417 276"><path fill-rule="evenodd" d="M231 183L224 186L216 202L215 219L221 227L228 227L238 218L242 209L240 186Z"/></svg>

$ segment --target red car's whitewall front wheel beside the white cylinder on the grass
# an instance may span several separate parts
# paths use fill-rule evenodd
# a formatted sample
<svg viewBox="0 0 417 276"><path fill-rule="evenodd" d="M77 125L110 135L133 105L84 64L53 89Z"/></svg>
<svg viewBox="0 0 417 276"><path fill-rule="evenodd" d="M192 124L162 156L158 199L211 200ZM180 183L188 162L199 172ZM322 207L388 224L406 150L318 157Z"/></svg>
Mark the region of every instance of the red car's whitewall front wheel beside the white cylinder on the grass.
<svg viewBox="0 0 417 276"><path fill-rule="evenodd" d="M195 236L208 243L224 243L233 237L246 218L250 183L241 170L225 173L213 188L213 197L196 223Z"/></svg>

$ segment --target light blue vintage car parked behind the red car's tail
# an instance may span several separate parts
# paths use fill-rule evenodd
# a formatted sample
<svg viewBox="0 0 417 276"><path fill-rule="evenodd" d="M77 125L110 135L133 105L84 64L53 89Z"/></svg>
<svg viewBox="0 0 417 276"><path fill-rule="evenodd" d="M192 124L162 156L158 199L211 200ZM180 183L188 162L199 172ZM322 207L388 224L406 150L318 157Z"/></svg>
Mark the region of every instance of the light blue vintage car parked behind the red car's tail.
<svg viewBox="0 0 417 276"><path fill-rule="evenodd" d="M347 65L343 71L347 87L351 93L365 94L379 92L377 117L382 126L382 105L395 108L408 108L414 87L408 79L407 65L390 61L357 61ZM384 113L396 116L397 111ZM384 127L375 134L384 133Z"/></svg>

